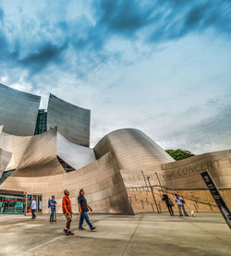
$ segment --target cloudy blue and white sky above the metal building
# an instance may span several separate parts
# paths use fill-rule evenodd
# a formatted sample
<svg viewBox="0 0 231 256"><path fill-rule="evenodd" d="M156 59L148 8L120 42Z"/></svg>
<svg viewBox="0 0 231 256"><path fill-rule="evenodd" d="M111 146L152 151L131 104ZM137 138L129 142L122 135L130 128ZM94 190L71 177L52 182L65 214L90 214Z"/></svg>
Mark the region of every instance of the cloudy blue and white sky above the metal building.
<svg viewBox="0 0 231 256"><path fill-rule="evenodd" d="M139 128L231 148L231 1L0 0L0 82L91 109L91 145Z"/></svg>

